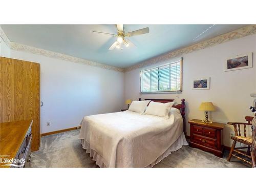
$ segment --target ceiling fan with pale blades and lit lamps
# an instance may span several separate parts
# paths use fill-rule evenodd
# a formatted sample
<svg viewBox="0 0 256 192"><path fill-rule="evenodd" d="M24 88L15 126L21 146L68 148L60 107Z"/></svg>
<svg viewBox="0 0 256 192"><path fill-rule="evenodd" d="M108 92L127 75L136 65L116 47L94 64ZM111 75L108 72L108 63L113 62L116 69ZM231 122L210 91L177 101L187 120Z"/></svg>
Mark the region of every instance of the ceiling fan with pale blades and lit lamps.
<svg viewBox="0 0 256 192"><path fill-rule="evenodd" d="M129 33L125 33L123 30L123 24L117 24L117 34L112 34L112 33L104 33L100 31L93 31L94 33L102 33L106 35L111 35L111 36L116 36L117 40L110 46L109 50L113 49L123 49L121 46L124 45L125 47L129 47L130 45L134 45L131 40L127 39L127 37L132 37L136 35L142 35L145 33L149 33L150 29L148 27L139 29L136 31L131 31Z"/></svg>

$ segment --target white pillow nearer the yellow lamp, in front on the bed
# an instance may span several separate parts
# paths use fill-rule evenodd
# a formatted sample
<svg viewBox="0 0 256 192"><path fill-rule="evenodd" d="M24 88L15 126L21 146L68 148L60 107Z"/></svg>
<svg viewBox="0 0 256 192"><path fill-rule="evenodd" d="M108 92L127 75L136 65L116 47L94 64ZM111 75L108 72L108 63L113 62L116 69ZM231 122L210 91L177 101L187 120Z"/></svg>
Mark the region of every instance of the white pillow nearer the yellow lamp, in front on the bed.
<svg viewBox="0 0 256 192"><path fill-rule="evenodd" d="M168 119L169 111L173 105L174 105L174 102L160 103L160 102L151 101L150 104L147 106L144 114L156 115L156 116L160 116L160 117L164 117L165 119Z"/></svg>

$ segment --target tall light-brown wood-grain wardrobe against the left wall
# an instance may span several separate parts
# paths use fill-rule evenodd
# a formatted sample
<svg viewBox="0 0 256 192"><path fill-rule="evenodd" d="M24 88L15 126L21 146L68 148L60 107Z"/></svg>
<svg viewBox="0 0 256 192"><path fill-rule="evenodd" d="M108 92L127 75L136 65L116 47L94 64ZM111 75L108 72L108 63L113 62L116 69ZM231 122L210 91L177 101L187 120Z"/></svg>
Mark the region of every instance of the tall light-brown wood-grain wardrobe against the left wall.
<svg viewBox="0 0 256 192"><path fill-rule="evenodd" d="M0 57L0 123L29 119L33 119L31 150L37 151L40 146L40 65Z"/></svg>

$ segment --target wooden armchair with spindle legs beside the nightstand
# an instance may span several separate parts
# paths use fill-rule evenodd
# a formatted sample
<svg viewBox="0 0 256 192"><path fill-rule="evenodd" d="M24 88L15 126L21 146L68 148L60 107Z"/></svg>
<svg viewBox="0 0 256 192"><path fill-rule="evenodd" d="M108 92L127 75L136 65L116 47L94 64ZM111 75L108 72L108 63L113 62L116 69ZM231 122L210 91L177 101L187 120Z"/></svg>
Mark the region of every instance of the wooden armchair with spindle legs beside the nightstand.
<svg viewBox="0 0 256 192"><path fill-rule="evenodd" d="M235 134L235 136L231 136L231 139L234 141L233 141L232 147L230 149L230 153L229 153L227 161L230 161L231 157L236 157L236 158L238 158L246 163L249 163L251 165L250 148L251 148L252 138L246 137L246 125L251 125L251 121L252 121L253 117L245 116L245 119L246 119L247 123L241 123L241 122L228 122L227 123L227 124L234 126L234 134ZM243 130L244 136L241 136L240 126L244 127L244 130ZM247 146L235 147L237 142L243 143ZM247 153L245 151L241 150L243 148L247 148ZM234 154L234 152L236 152L236 154ZM244 159L238 155L247 157L247 159Z"/></svg>

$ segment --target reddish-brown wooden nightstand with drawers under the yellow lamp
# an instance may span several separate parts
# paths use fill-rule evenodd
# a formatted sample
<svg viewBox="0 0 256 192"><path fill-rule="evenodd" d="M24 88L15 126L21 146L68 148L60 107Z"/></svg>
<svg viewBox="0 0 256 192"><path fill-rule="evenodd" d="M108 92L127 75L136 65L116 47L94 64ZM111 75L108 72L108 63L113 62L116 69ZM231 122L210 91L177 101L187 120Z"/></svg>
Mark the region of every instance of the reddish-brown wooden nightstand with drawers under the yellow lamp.
<svg viewBox="0 0 256 192"><path fill-rule="evenodd" d="M221 131L225 127L224 123L203 123L199 119L192 119L188 123L190 124L189 146L223 157Z"/></svg>

